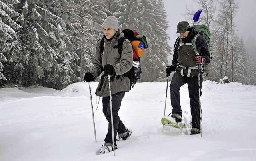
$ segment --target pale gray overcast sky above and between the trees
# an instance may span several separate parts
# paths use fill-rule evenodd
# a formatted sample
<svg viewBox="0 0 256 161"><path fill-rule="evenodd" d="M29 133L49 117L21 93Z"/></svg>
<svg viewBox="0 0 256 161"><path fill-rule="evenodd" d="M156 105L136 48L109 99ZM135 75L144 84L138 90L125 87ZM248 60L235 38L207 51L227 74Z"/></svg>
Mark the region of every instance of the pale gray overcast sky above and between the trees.
<svg viewBox="0 0 256 161"><path fill-rule="evenodd" d="M235 24L237 25L237 34L240 37L242 36L244 41L247 41L249 36L256 37L254 33L256 25L256 0L237 0L237 2L239 2L239 9L234 18ZM188 8L192 7L194 10L202 8L200 8L200 6L193 0L164 0L164 5L168 16L167 20L169 22L169 29L167 31L171 38L169 45L173 47L177 37L177 24L178 22L185 20L185 16L182 14L185 14L186 6L188 6ZM192 24L190 24L190 26L191 25Z"/></svg>

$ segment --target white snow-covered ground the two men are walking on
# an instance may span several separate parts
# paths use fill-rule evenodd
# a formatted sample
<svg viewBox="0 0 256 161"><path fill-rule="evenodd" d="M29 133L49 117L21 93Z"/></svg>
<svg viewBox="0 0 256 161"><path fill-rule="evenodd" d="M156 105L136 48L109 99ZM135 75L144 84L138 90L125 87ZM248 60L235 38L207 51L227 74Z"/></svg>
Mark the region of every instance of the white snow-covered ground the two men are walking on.
<svg viewBox="0 0 256 161"><path fill-rule="evenodd" d="M133 133L117 142L113 156L96 155L108 128L102 98L94 94L97 84L91 83L97 142L88 83L61 91L41 86L0 89L0 161L256 160L256 86L204 81L201 138L186 135L189 128L162 126L166 82L137 83L126 92L119 111ZM186 85L180 93L183 116L191 120ZM167 98L169 114L169 88Z"/></svg>

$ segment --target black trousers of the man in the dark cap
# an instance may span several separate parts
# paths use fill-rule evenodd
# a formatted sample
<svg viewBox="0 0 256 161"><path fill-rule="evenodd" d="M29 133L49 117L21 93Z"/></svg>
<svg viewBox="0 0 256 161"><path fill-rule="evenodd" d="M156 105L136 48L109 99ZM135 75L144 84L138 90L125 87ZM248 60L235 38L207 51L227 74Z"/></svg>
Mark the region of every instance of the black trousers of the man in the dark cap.
<svg viewBox="0 0 256 161"><path fill-rule="evenodd" d="M188 94L190 99L190 110L192 116L192 128L200 129L200 109L198 95L198 76L181 76L180 72L175 72L170 84L172 113L182 116L180 106L180 87L188 83ZM203 77L200 75L200 96L202 95Z"/></svg>

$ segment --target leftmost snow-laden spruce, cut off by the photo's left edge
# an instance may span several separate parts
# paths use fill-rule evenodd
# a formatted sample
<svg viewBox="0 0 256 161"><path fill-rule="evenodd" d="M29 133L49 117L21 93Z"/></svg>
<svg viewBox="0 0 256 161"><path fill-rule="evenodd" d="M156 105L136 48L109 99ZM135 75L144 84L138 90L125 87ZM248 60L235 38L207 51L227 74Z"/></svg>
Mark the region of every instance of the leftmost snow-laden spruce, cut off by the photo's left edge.
<svg viewBox="0 0 256 161"><path fill-rule="evenodd" d="M0 1L0 85L6 83L18 83L12 78L20 73L20 63L18 60L21 56L21 45L16 31L22 29L22 26L16 23L15 18L20 16L15 11L18 0ZM15 67L16 66L16 67ZM15 67L15 68L14 68ZM20 67L20 68L19 68ZM3 73L2 73L3 71ZM20 80L21 77L17 78Z"/></svg>

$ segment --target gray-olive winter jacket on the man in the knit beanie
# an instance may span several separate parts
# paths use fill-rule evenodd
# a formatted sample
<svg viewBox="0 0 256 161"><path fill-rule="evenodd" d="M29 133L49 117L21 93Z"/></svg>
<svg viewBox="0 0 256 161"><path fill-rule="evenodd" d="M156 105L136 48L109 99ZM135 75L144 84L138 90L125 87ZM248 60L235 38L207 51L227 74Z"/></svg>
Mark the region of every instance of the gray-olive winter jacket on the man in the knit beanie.
<svg viewBox="0 0 256 161"><path fill-rule="evenodd" d="M128 92L130 90L130 80L128 77L124 77L123 74L128 72L132 68L132 45L128 39L124 40L122 55L119 54L118 48L114 47L118 45L118 39L123 37L124 34L118 29L113 39L108 41L105 39L103 53L100 53L100 40L97 43L94 67L92 68L92 75L97 78L103 72L103 67L106 64L114 66L115 77L111 79L111 94L115 94L120 91ZM104 77L104 76L102 76ZM102 81L98 84L95 94L97 96L109 96L108 77L102 78Z"/></svg>

